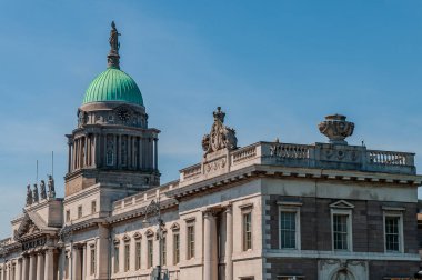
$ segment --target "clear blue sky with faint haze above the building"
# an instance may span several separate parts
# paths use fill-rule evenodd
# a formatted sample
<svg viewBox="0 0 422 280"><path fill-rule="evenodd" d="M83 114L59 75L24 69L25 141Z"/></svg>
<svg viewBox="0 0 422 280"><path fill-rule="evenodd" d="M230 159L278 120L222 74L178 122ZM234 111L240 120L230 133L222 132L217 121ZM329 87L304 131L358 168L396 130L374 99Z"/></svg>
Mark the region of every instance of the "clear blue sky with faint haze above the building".
<svg viewBox="0 0 422 280"><path fill-rule="evenodd" d="M64 134L111 20L162 131L162 182L200 161L217 106L240 146L326 141L316 124L342 113L350 143L416 152L422 172L422 1L0 1L0 238L51 151L63 196Z"/></svg>

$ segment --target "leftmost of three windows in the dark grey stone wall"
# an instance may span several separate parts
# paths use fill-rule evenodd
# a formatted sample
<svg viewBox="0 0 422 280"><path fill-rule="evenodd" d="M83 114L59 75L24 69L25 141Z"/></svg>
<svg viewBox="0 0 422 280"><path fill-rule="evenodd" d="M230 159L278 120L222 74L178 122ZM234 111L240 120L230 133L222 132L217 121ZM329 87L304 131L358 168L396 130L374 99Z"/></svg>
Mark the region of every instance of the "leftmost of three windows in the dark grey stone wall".
<svg viewBox="0 0 422 280"><path fill-rule="evenodd" d="M280 239L282 249L297 249L297 212L280 212Z"/></svg>

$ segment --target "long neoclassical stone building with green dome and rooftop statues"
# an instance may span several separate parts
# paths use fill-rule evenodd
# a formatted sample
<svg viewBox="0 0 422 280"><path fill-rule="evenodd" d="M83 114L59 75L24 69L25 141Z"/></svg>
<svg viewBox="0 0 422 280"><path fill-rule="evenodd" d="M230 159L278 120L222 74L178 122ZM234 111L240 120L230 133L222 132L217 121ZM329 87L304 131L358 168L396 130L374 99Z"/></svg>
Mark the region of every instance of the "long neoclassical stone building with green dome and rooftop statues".
<svg viewBox="0 0 422 280"><path fill-rule="evenodd" d="M0 280L364 280L419 270L414 154L348 144L354 124L340 114L319 126L326 143L241 148L218 108L199 163L160 184L160 131L120 70L118 36L112 24L108 68L67 136L64 198L52 177L28 187L0 241Z"/></svg>

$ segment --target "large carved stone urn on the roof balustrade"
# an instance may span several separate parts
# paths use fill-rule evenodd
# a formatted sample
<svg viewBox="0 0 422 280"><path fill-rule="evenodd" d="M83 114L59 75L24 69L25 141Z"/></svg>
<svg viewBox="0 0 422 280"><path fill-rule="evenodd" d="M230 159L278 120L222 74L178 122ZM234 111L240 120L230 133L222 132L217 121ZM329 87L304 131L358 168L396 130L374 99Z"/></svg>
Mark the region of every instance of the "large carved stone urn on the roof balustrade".
<svg viewBox="0 0 422 280"><path fill-rule="evenodd" d="M318 124L320 132L330 139L333 144L348 144L344 139L353 134L354 123L345 120L345 116L330 114Z"/></svg>

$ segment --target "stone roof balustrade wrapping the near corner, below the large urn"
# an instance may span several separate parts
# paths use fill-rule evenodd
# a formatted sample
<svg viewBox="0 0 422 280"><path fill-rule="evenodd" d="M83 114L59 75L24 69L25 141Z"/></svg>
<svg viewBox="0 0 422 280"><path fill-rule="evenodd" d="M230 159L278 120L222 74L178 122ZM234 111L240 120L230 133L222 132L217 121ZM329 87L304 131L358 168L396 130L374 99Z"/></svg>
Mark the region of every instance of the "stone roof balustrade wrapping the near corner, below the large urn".
<svg viewBox="0 0 422 280"><path fill-rule="evenodd" d="M258 142L227 151L225 156L220 152L218 157L224 164L214 164L211 171L207 167L215 159L210 156L201 163L182 169L180 183L184 186L200 180L202 176L210 178L212 172L219 176L222 169L230 172L250 164L415 174L414 153L368 150L364 146Z"/></svg>

